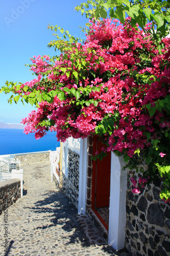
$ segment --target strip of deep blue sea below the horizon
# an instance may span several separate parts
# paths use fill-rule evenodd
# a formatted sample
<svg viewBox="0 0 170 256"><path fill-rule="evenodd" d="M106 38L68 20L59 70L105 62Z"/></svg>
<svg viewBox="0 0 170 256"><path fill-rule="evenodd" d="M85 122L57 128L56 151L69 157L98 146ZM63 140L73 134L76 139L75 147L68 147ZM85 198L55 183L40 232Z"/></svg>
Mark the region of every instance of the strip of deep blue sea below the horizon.
<svg viewBox="0 0 170 256"><path fill-rule="evenodd" d="M60 146L56 132L47 134L36 140L34 134L25 134L22 129L0 129L0 155L55 151Z"/></svg>

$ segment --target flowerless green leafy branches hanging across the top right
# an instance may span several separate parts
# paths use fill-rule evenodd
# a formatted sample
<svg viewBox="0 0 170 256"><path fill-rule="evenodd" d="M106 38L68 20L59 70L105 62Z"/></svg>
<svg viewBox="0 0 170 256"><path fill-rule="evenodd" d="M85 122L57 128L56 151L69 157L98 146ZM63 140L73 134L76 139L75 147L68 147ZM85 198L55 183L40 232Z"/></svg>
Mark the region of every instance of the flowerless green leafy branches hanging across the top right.
<svg viewBox="0 0 170 256"><path fill-rule="evenodd" d="M169 1L164 0L87 0L78 5L75 10L81 11L87 18L117 18L125 23L125 17L131 17L132 27L138 24L142 29L147 22L152 22L152 29L154 37L156 38L154 25L156 30L162 35L166 35L167 28L170 23L170 4Z"/></svg>

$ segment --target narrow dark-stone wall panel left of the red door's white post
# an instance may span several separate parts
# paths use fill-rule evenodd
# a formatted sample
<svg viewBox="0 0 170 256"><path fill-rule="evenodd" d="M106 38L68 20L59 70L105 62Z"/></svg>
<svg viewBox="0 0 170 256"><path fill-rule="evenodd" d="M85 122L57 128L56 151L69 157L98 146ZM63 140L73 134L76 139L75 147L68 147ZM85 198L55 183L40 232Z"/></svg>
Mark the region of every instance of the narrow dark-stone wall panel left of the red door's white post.
<svg viewBox="0 0 170 256"><path fill-rule="evenodd" d="M68 149L68 176L62 173L62 191L78 208L80 156ZM61 173L61 170L60 170Z"/></svg>

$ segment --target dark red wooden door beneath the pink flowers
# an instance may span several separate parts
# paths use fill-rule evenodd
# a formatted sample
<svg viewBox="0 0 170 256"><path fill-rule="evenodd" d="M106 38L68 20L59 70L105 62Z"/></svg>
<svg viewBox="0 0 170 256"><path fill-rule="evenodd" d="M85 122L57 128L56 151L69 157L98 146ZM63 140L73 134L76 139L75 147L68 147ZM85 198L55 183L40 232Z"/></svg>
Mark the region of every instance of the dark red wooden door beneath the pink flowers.
<svg viewBox="0 0 170 256"><path fill-rule="evenodd" d="M96 143L96 150L99 153L101 148L105 146L101 141L94 137L94 144ZM110 197L110 164L111 153L107 153L102 161L99 159L95 161L93 171L95 172L95 208L108 207ZM94 182L93 182L94 184Z"/></svg>

